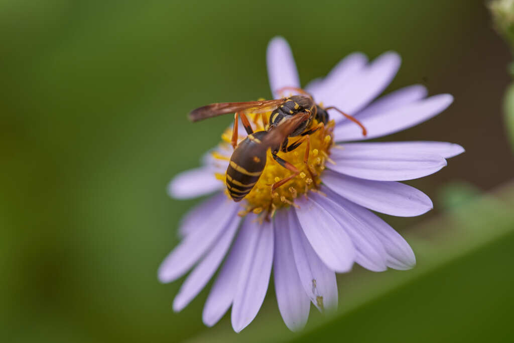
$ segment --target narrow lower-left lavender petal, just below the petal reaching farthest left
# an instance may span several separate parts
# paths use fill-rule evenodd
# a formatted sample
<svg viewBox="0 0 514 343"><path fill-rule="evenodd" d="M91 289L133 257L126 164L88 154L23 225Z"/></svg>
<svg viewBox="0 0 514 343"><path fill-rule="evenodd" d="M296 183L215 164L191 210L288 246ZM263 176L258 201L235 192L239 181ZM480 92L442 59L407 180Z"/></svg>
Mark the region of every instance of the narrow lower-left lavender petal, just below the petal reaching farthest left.
<svg viewBox="0 0 514 343"><path fill-rule="evenodd" d="M234 238L237 226L241 218L234 216L225 231L218 238L213 248L204 259L188 275L186 281L180 287L177 296L173 300L173 311L179 312L185 308L205 287L207 282L216 272L219 264L227 254L227 250Z"/></svg>

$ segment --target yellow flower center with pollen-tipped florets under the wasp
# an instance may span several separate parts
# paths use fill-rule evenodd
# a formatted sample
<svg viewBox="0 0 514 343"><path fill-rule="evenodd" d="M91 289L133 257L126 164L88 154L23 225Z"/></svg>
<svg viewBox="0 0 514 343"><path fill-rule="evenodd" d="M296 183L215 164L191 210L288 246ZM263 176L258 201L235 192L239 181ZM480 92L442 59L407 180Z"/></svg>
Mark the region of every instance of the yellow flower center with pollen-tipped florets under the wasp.
<svg viewBox="0 0 514 343"><path fill-rule="evenodd" d="M249 114L249 119L254 123L254 132L266 130L267 125L264 124L262 117L269 118L269 113ZM298 148L293 151L284 153L280 151L278 156L288 161L290 164L300 170L300 174L290 179L286 184L280 186L271 192L271 185L279 182L280 180L293 174L292 171L282 167L276 160L273 159L270 149L267 151L266 167L264 168L258 182L243 199L243 206L245 207L239 214L246 215L249 212L272 213L281 207L296 206L295 199L308 191L316 191L318 185L321 183L320 175L325 169L325 163L332 161L328 155L329 150L333 146L334 120L329 121L324 127L319 129L313 134L309 135L310 149L308 152L307 164L304 163L305 150L307 143L303 142ZM318 125L316 120L313 120L310 128ZM225 130L222 134L222 145L229 145L232 137L232 128ZM238 142L246 138L245 136L238 137ZM289 137L288 144L296 142L300 139L298 137ZM214 154L217 158L224 158L218 154ZM216 173L216 177L225 184L226 172L224 174ZM228 191L225 191L230 198Z"/></svg>

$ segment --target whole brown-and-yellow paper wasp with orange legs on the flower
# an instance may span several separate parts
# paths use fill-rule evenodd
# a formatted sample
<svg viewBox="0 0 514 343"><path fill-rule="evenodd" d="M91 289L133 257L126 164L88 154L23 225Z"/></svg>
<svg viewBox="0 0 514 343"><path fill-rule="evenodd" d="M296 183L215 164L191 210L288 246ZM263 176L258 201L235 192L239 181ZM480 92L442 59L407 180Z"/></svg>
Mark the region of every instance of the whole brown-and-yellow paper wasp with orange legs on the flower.
<svg viewBox="0 0 514 343"><path fill-rule="evenodd" d="M343 113L336 107L323 108L317 105L311 95L299 88L284 87L278 93L285 89L291 89L302 95L294 95L276 100L213 103L199 107L189 114L189 119L198 121L222 114L235 113L232 130L234 152L230 157L227 168L226 185L230 196L236 202L241 201L259 180L266 166L266 152L268 149L271 149L271 156L273 156L274 160L293 172L290 176L271 185L271 192L300 174L298 168L280 158L277 153L279 151L293 151L305 142L307 147L303 161L307 165L310 149L309 135L323 128L328 122L327 110L336 110L346 118L357 123L362 128L362 134L366 135L365 128L358 120ZM253 132L246 114L264 114L267 112L271 112L268 129L266 131ZM248 136L237 144L239 117L241 117ZM311 128L313 119L316 119L318 124L316 127ZM296 136L302 137L288 146L288 137Z"/></svg>

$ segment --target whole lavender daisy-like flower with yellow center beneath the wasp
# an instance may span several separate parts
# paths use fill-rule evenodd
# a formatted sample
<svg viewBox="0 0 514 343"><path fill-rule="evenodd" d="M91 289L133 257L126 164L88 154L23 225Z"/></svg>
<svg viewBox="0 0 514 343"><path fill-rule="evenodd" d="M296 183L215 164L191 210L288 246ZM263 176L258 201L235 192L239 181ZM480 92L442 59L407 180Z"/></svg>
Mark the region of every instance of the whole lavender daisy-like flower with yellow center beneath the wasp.
<svg viewBox="0 0 514 343"><path fill-rule="evenodd" d="M269 43L267 64L275 98L283 96L278 92L283 87L300 87L283 38ZM175 198L216 192L186 214L179 227L182 241L159 268L162 282L176 280L193 268L173 301L175 311L185 308L225 259L204 306L204 323L213 326L232 306L233 329L244 329L261 308L273 269L280 313L294 331L304 327L310 302L320 311L337 308L335 273L350 271L354 263L374 272L415 265L409 244L370 210L415 216L432 209L427 195L398 181L432 174L446 166L446 158L464 149L433 141L354 142L410 128L453 101L449 94L427 98L422 85L373 101L399 66L395 52L383 53L373 62L353 53L325 78L305 87L317 103L336 106L358 119L368 135L363 137L358 125L329 110L332 120L311 135L308 166L302 161L305 147L282 155L305 172L274 193L269 185L291 172L268 158L259 182L241 203L227 196L231 129L222 136L224 142L204 157L203 167L173 178L169 193ZM256 130L266 127L260 118L252 117ZM271 220L263 220L266 208L273 208Z"/></svg>

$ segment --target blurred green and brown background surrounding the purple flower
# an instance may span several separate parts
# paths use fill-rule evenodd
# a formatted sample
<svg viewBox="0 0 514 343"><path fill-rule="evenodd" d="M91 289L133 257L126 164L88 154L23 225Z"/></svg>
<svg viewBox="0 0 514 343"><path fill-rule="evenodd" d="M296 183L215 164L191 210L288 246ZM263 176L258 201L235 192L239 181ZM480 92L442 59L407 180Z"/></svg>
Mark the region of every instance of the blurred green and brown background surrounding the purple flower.
<svg viewBox="0 0 514 343"><path fill-rule="evenodd" d="M508 48L481 1L0 1L0 340L5 342L507 341L514 306L514 171L501 114ZM156 270L182 213L166 185L231 118L216 101L270 97L267 42L291 44L302 84L341 58L402 56L388 91L451 93L442 115L389 140L466 153L410 182L434 200L392 218L418 266L339 277L340 310L289 332L272 283L258 317L201 323ZM208 289L209 287L207 287Z"/></svg>

